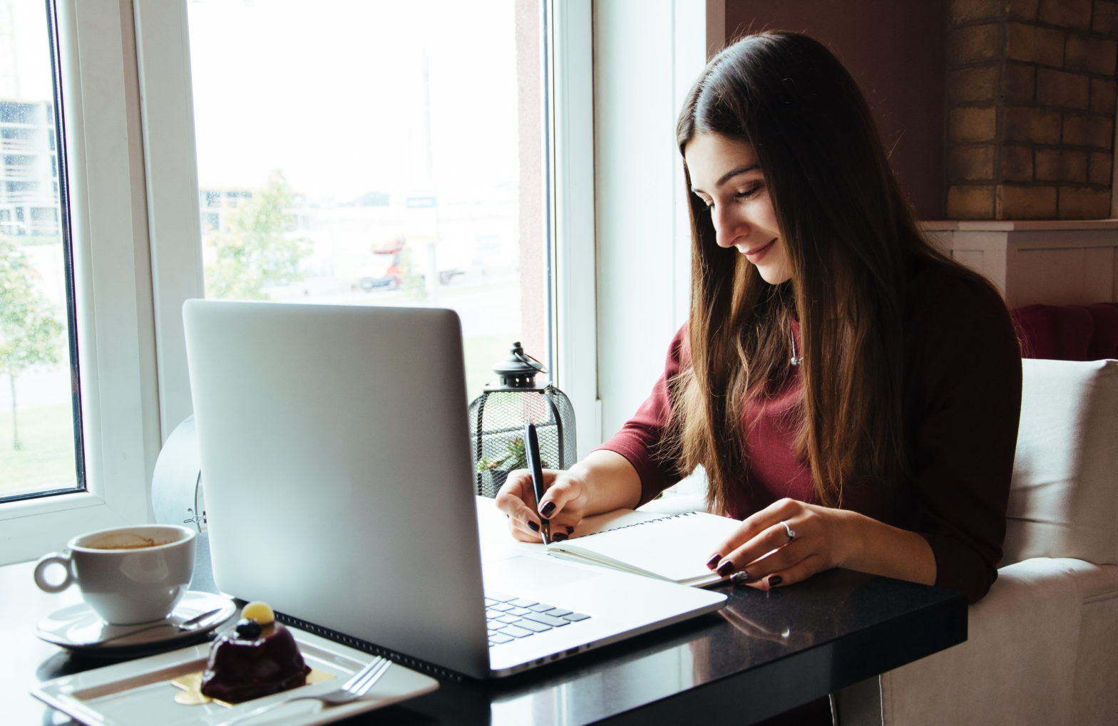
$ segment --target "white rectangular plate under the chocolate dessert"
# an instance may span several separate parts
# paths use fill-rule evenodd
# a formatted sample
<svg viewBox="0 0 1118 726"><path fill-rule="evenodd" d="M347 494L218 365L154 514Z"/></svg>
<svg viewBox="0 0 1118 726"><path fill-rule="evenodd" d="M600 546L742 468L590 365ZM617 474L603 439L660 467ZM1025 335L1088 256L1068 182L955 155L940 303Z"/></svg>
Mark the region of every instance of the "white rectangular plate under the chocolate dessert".
<svg viewBox="0 0 1118 726"><path fill-rule="evenodd" d="M31 695L74 719L91 726L129 726L132 724L217 724L235 714L290 696L325 692L360 670L372 656L332 642L297 628L291 628L306 665L335 677L321 684L256 698L228 708L217 703L186 706L174 701L180 689L173 678L200 671L206 667L209 643L172 650L158 656L105 666L73 676L48 680L31 690ZM438 688L434 678L392 663L364 698L342 706L324 707L321 701L305 700L262 714L245 724L283 723L292 725L328 724L376 708L388 706Z"/></svg>

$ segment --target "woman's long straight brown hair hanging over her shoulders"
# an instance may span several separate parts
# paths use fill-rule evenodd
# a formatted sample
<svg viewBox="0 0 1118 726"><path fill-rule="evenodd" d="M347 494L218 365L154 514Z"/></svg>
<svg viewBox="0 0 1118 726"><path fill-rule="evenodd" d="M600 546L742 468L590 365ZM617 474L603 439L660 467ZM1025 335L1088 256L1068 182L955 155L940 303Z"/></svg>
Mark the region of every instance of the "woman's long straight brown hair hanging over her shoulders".
<svg viewBox="0 0 1118 726"><path fill-rule="evenodd" d="M795 447L819 501L841 504L855 480L899 483L908 471L901 426L908 269L917 258L963 268L918 231L858 85L806 36L748 36L716 56L689 93L676 126L681 153L698 133L754 145L792 279L771 286L736 249L720 248L684 174L692 365L671 382L671 456L681 471L702 465L710 504L726 508L729 487L748 470L743 408L771 395L789 374L796 315L804 398Z"/></svg>

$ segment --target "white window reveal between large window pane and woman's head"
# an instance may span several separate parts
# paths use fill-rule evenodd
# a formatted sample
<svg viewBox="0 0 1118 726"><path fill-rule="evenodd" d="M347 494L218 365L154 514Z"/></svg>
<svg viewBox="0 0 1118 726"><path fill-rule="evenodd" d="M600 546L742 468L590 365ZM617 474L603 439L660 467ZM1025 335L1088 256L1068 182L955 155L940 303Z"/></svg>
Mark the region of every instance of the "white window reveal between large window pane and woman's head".
<svg viewBox="0 0 1118 726"><path fill-rule="evenodd" d="M691 221L675 117L724 44L724 0L594 6L596 356L606 437L648 397L688 318Z"/></svg>

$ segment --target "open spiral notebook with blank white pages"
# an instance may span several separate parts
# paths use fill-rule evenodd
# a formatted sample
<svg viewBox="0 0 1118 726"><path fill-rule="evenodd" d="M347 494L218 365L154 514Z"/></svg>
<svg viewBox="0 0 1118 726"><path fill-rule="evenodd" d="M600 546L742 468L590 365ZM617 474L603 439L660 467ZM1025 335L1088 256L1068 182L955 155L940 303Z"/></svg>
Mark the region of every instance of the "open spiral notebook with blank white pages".
<svg viewBox="0 0 1118 726"><path fill-rule="evenodd" d="M726 580L707 569L717 547L741 523L705 512L659 515L547 545L548 554L681 585L705 588ZM576 531L576 535L578 532Z"/></svg>

